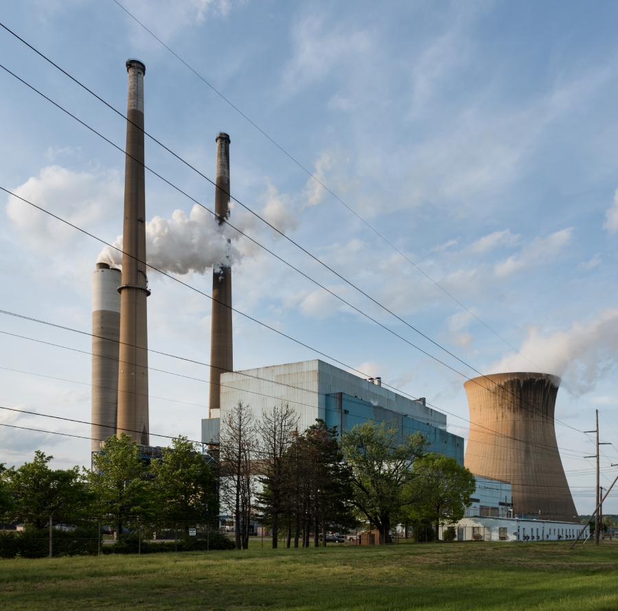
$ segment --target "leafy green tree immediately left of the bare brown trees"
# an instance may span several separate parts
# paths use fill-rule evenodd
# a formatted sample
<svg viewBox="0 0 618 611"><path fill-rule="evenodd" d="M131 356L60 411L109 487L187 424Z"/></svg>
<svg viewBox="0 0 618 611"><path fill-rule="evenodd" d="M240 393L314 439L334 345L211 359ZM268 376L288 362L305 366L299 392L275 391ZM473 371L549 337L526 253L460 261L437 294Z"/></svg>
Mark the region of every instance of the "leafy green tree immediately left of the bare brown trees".
<svg viewBox="0 0 618 611"><path fill-rule="evenodd" d="M188 535L192 524L210 522L218 515L214 474L192 441L179 436L165 448L162 461L153 461L151 487L157 502L157 522L176 527Z"/></svg>

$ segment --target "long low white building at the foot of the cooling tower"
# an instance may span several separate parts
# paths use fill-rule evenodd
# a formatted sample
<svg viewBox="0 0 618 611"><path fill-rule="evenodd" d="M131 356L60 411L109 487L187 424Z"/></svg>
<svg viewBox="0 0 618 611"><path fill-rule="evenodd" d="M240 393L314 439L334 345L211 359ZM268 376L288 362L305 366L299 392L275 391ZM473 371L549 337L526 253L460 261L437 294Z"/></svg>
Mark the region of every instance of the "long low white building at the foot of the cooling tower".
<svg viewBox="0 0 618 611"><path fill-rule="evenodd" d="M486 516L469 516L461 518L455 528L457 541L574 541L584 524L577 522L552 522L531 518L496 518ZM444 531L450 527L440 527L439 538L444 538ZM586 527L582 538L590 535Z"/></svg>

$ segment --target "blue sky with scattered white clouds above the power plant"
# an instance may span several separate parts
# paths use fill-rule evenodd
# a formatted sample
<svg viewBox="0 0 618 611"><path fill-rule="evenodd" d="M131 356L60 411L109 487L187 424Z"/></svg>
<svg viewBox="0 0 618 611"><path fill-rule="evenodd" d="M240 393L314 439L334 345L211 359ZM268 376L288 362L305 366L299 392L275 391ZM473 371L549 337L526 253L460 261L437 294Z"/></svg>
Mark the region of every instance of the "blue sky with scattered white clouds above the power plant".
<svg viewBox="0 0 618 611"><path fill-rule="evenodd" d="M0 23L121 113L139 58L146 131L208 178L230 135L231 195L286 236L233 203L235 227L279 257L226 235L235 369L317 350L426 397L466 438L466 379L553 373L562 462L592 511L595 409L618 444L616 3L8 0ZM122 117L2 28L0 58L124 149ZM119 244L122 152L5 70L0 187ZM214 187L148 139L146 165L180 189L146 172L149 262L209 295L221 240L197 203ZM0 314L0 406L22 411L0 424L39 429L0 426L0 462L40 448L88 465L89 426L47 416L89 422L91 274L111 251L0 204L0 310L77 331ZM156 273L150 287L150 348L207 363L211 301ZM150 356L153 444L200 438L209 371L181 358ZM602 446L602 485L614 462Z"/></svg>

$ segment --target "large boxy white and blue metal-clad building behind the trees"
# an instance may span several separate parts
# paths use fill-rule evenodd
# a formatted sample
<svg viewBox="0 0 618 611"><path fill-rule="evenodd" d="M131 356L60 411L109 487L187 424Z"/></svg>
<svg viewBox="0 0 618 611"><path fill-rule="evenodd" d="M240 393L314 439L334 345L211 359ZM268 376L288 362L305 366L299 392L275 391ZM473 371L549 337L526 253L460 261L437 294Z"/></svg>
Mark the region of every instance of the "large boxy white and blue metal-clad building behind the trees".
<svg viewBox="0 0 618 611"><path fill-rule="evenodd" d="M349 430L367 420L395 424L402 433L420 431L431 443L429 451L464 463L464 439L448 433L446 415L382 387L380 378L366 380L321 360L306 360L222 373L220 411L202 420L203 443L216 443L220 417L239 401L249 404L256 419L282 402L299 415L299 430L317 418L337 430Z"/></svg>

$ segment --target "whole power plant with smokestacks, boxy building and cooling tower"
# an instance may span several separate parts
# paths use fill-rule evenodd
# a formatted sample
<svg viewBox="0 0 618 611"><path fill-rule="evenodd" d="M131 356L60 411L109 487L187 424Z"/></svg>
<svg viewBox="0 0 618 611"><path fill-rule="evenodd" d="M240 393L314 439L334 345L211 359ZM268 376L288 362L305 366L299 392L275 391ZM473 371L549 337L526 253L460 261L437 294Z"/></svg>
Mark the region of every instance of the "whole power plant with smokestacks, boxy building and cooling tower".
<svg viewBox="0 0 618 611"><path fill-rule="evenodd" d="M150 447L148 415L146 67L138 60L128 60L126 69L122 273L103 262L93 272L91 450L97 452L104 439L126 433L139 444L141 456L160 458L161 448ZM219 227L230 214L229 144L229 135L218 133L214 211ZM458 539L460 529L461 540L484 536L493 540L494 535L495 540L558 540L577 530L573 524L577 510L554 430L560 378L544 373L498 373L468 380L464 388L470 437L464 457L464 439L447 430L446 415L424 399L414 400L382 387L381 378L359 378L321 360L233 371L231 259L227 255L222 259L212 273L209 417L202 420L204 446L218 445L220 423L238 402L249 406L256 420L275 404L289 404L303 430L316 419L336 427L339 435L363 422L382 422L398 426L402 435L421 433L430 451L453 457L477 478L474 498L457 525ZM517 520L526 521L515 524ZM471 529L469 536L466 529Z"/></svg>

